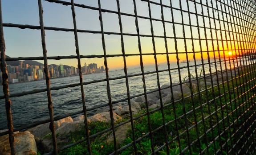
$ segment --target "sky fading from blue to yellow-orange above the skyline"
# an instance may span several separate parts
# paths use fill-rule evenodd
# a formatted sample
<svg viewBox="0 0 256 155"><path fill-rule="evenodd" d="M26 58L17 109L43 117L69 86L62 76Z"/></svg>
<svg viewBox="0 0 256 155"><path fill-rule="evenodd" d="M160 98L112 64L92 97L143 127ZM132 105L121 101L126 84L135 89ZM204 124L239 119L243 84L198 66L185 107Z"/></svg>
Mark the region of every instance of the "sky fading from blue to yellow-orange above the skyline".
<svg viewBox="0 0 256 155"><path fill-rule="evenodd" d="M67 0L69 1L69 0ZM98 0L74 0L77 4L85 4L92 7L98 8ZM159 2L159 0L154 0ZM200 0L197 0L200 1ZM191 12L195 12L195 5L193 2L189 1L189 9ZM163 4L170 6L169 0L163 0ZM182 9L187 11L187 0L182 0ZM206 0L203 0L203 4L206 4ZM103 9L109 9L117 11L116 0L101 0L101 5ZM148 4L147 2L142 2L141 0L136 0L138 15L149 17ZM179 0L172 0L172 5L175 8L179 8ZM211 5L211 3L209 3ZM62 4L50 3L42 0L42 6L44 10L43 19L45 27L61 27L61 28L71 28L73 29L73 18L71 6L65 6ZM161 19L161 8L158 5L150 4L152 18ZM134 14L134 4L132 0L120 0L120 9L123 13ZM197 4L197 11L202 14L202 9L199 4ZM170 8L163 8L165 20L171 21L171 10ZM80 30L90 30L90 31L101 31L99 11L91 10L85 8L75 7L76 12L76 22L77 29ZM213 16L212 10L210 10L210 16ZM182 28L182 17L179 10L173 10L174 21L179 23L175 24L176 36L183 37ZM207 15L207 8L203 7L204 15ZM28 24L39 26L39 13L37 0L2 0L2 15L3 23L15 23L15 24ZM215 16L217 13L215 12ZM103 17L103 28L106 32L120 32L118 24L118 15L114 13L102 12ZM198 16L199 26L203 26L202 16ZM137 34L135 26L135 18L122 15L122 26L123 33ZM188 13L183 12L184 23L189 24ZM217 17L215 17L217 18ZM207 27L207 38L210 38L210 25L209 19L205 18L205 26ZM211 21L213 23L213 21ZM150 32L150 20L138 18L139 31L141 35L151 35ZM196 16L191 14L191 24L197 25ZM166 33L167 36L173 37L173 25L172 23L166 23ZM211 25L213 26L213 25ZM222 27L217 23L217 28ZM160 21L153 21L154 35L163 36L163 24ZM186 38L191 38L191 31L189 26L184 27ZM204 29L200 28L200 37L205 39ZM220 39L221 31L218 31L218 37ZM207 50L206 41L201 41L202 49L199 46L199 34L197 27L192 27L192 36L197 40L194 41L194 47L196 51ZM106 43L106 54L122 54L121 50L121 37L120 35L104 35ZM39 57L43 56L42 46L41 46L41 32L40 30L31 29L20 29L16 27L4 27L4 39L6 45L6 55L16 58L16 57ZM64 31L52 31L45 30L46 39L46 49L48 56L69 56L76 55L75 40L73 32ZM153 44L151 37L140 37L142 53L153 53ZM215 31L213 39L216 39ZM186 39L187 50L192 51L192 40ZM102 55L102 36L101 34L92 33L79 33L78 32L78 43L81 55ZM217 41L214 42L217 44ZM224 43L226 44L226 43ZM230 46L232 43L229 43ZM167 39L167 45L169 52L175 52L175 40ZM126 54L138 54L138 37L137 36L124 36L124 46ZM163 38L155 38L156 53L165 53L165 42ZM208 50L213 50L211 46L211 41L208 41ZM178 52L184 52L184 39L177 39ZM220 50L228 49L226 45L224 47L220 46ZM216 50L216 46L215 46ZM189 58L193 58L193 54L188 54ZM210 52L210 56L213 53ZM170 61L177 61L175 54L170 54ZM196 54L196 58L200 58L200 54ZM207 54L203 55L207 58ZM186 54L179 54L180 61L186 59ZM166 55L157 56L158 63L166 62ZM104 58L83 58L81 59L81 64L84 63L98 63L98 66L103 66ZM109 68L122 68L124 66L122 57L107 58ZM126 62L128 66L134 66L139 64L138 56L126 57ZM69 66L77 66L76 59L62 59L62 60L49 60L49 64L65 64ZM154 56L143 56L143 63L150 64L154 63Z"/></svg>

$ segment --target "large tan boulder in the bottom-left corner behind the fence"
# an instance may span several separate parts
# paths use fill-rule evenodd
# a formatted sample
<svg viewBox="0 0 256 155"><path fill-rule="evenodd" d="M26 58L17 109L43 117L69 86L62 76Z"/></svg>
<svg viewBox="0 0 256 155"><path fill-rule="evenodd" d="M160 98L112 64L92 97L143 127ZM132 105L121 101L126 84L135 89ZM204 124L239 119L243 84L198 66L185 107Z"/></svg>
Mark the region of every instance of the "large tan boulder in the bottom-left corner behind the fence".
<svg viewBox="0 0 256 155"><path fill-rule="evenodd" d="M0 137L0 155L11 155L9 135ZM28 132L14 133L14 145L16 155L36 155L37 144L34 136Z"/></svg>

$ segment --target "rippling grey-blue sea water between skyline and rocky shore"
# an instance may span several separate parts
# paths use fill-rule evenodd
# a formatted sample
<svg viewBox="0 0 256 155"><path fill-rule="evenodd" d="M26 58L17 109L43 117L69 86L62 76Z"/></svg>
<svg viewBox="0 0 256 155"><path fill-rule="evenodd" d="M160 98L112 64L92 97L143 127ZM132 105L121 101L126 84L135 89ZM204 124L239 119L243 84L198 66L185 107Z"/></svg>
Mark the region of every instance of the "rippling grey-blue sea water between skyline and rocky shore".
<svg viewBox="0 0 256 155"><path fill-rule="evenodd" d="M211 59L211 62L214 62ZM248 64L250 61L248 61ZM245 62L242 62L242 65L245 65ZM188 75L188 67L187 63L180 63L180 70L178 70L178 65L176 62L172 62L171 67L171 77L173 83L179 83L179 73L181 79L184 80L187 78ZM202 70L204 66L205 73L209 73L209 69L211 67L212 73L216 71L215 64L209 63L207 60L204 60L204 65L202 65L202 61L196 61L196 69L198 72L198 76L202 75ZM191 74L195 77L195 66L194 61L189 62L189 70ZM217 62L216 63L217 70L220 70L220 66L223 69L225 68L224 62ZM233 64L229 65L229 61L226 61L227 69L230 67L237 67L240 65ZM168 66L166 63L158 64L158 70L166 70L163 72L159 72L159 82L160 85L170 85L170 78L168 72ZM155 71L155 65L145 65L144 72L149 73ZM141 74L141 68L137 67L128 67L128 75L136 75ZM200 74L201 73L201 74ZM125 76L125 73L122 69L118 70L110 70L109 77L121 77ZM99 74L87 74L83 76L84 81L94 81L100 79L106 79L106 73L99 73ZM130 89L130 96L135 96L138 94L143 93L143 82L142 82L142 75L129 77L129 89ZM157 74L145 74L145 81L146 81L146 89L147 91L157 89ZM79 83L79 76L73 77L64 77L64 78L55 78L51 79L51 87L57 87L61 85L69 85L69 84L76 84ZM36 89L46 89L45 81L31 81L31 82L24 82L24 83L15 83L9 85L10 94L16 94L21 92L28 92L33 91ZM88 85L84 85L85 91L85 104L87 109L93 108L94 106L107 104L108 97L106 91L106 81L92 83ZM126 80L125 78L116 79L110 81L110 93L112 101L118 101L120 99L127 98L127 89L126 89ZM62 116L64 114L68 114L70 112L77 112L82 110L82 102L81 102L81 92L80 86L67 88L67 89L59 89L59 90L52 90L52 101L53 101L53 112L54 116ZM2 85L0 85L0 96L3 95ZM30 94L20 97L11 97L12 101L12 119L14 128L19 127L22 124L30 124L40 120L49 119L49 111L48 111L48 100L47 94L44 93L36 93ZM124 101L122 104L126 104ZM89 115L92 115L93 112L88 112ZM6 120L6 112L5 112L5 101L4 99L0 100L0 130L7 128L7 120Z"/></svg>

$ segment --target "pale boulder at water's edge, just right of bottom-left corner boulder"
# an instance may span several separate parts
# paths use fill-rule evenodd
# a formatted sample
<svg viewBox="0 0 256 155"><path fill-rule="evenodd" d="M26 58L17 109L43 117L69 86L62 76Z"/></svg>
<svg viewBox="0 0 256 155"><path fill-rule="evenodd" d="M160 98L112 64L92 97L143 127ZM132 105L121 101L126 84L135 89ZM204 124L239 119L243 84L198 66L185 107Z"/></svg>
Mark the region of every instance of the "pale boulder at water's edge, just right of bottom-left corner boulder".
<svg viewBox="0 0 256 155"><path fill-rule="evenodd" d="M64 123L64 122L73 122L73 119L69 116L69 117L63 118L61 120L54 121L55 130L57 128L59 128L61 126L61 124ZM35 138L42 138L43 136L51 133L51 130L49 128L49 124L50 123L37 125L36 127L30 128L27 131L31 132L35 136Z"/></svg>

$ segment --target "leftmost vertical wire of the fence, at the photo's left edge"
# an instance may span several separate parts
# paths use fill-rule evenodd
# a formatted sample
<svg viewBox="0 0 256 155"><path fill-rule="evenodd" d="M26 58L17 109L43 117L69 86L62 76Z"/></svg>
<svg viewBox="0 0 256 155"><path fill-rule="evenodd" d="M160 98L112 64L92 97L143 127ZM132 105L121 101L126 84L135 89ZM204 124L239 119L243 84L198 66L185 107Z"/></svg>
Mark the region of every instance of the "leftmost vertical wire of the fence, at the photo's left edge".
<svg viewBox="0 0 256 155"><path fill-rule="evenodd" d="M8 81L8 70L6 63L6 55L5 55L5 42L4 42L4 28L3 28L3 17L2 17L2 2L0 0L0 52L1 52L1 63L0 68L2 71L3 78L3 93L5 98L5 110L7 117L7 126L8 126L8 140L10 143L11 154L15 155L15 144L14 144L14 133L13 133L13 124L12 124L12 101L10 99L9 94L9 81Z"/></svg>

